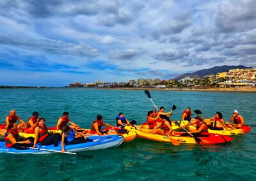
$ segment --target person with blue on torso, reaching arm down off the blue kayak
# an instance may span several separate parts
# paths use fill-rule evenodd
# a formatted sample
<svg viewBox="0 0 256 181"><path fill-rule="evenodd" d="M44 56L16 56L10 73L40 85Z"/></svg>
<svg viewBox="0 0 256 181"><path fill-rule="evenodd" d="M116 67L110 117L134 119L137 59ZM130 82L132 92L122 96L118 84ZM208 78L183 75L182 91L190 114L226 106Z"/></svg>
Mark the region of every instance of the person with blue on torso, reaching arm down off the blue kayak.
<svg viewBox="0 0 256 181"><path fill-rule="evenodd" d="M75 135L79 135L79 137L75 138ZM61 136L61 153L65 152L65 145L74 145L85 142L98 141L91 140L83 136L83 133L76 131L76 129L72 129L70 126L64 125L62 128L62 136Z"/></svg>

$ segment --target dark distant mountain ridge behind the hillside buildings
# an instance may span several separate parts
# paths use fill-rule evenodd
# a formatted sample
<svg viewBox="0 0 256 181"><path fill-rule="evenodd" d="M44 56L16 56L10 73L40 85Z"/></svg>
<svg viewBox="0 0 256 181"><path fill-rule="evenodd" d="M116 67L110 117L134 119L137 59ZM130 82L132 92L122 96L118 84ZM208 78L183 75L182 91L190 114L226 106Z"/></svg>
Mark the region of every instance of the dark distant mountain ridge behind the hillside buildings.
<svg viewBox="0 0 256 181"><path fill-rule="evenodd" d="M252 67L246 67L246 66L216 66L213 68L209 68L209 69L201 69L198 71L195 71L194 73L184 73L182 75L176 76L174 78L174 80L180 80L186 76L190 76L190 77L196 77L196 78L202 78L205 75L211 75L211 74L216 74L219 72L225 72L225 71L229 71L230 69L243 69L243 68L252 68Z"/></svg>

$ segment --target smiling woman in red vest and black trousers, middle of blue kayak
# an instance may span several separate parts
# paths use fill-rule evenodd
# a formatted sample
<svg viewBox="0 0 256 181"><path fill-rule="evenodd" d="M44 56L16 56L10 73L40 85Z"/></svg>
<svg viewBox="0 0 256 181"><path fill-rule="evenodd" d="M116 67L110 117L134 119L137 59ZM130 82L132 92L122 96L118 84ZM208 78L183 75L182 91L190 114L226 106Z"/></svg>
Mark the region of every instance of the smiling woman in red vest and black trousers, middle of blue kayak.
<svg viewBox="0 0 256 181"><path fill-rule="evenodd" d="M47 126L45 125L44 117L41 117L38 120L38 126L35 128L35 140L33 148L36 147L36 143L40 143L41 145L54 145L54 147L58 146L58 141L61 140L60 133L49 133Z"/></svg>

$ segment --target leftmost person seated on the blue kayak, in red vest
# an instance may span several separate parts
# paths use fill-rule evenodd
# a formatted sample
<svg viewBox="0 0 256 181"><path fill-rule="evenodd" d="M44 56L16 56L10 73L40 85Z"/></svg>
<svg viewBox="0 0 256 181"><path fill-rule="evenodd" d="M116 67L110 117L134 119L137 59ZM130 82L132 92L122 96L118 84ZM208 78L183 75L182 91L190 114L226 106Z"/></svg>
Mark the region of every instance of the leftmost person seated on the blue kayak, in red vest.
<svg viewBox="0 0 256 181"><path fill-rule="evenodd" d="M8 124L7 131L4 137L6 148L16 148L20 150L24 149L24 147L29 148L33 146L33 137L29 137L26 139L20 138L16 123Z"/></svg>

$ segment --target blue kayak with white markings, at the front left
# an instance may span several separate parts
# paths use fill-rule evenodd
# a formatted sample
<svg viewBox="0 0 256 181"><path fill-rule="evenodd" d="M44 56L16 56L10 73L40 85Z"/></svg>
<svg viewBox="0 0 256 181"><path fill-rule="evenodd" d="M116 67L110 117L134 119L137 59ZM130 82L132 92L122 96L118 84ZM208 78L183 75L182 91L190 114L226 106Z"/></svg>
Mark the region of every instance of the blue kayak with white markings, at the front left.
<svg viewBox="0 0 256 181"><path fill-rule="evenodd" d="M80 143L76 145L65 145L67 152L81 152L88 150L100 150L109 147L118 147L124 141L122 136L118 135L106 135L106 136L88 136L92 142ZM98 140L99 139L99 140ZM5 141L0 141L0 153L12 153L12 154L51 154L53 152L61 151L61 141L58 147L53 145L42 146L40 144L36 145L35 149L28 148L26 150L18 150L15 148L6 148Z"/></svg>

